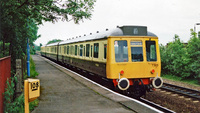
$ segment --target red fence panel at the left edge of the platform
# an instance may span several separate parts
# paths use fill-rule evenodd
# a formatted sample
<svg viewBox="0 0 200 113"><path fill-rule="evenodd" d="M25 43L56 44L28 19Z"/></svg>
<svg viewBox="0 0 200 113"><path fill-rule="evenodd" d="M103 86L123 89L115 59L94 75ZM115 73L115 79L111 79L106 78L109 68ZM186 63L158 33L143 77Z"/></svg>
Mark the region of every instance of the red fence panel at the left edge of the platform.
<svg viewBox="0 0 200 113"><path fill-rule="evenodd" d="M0 58L0 113L3 113L3 93L6 80L11 77L11 56Z"/></svg>

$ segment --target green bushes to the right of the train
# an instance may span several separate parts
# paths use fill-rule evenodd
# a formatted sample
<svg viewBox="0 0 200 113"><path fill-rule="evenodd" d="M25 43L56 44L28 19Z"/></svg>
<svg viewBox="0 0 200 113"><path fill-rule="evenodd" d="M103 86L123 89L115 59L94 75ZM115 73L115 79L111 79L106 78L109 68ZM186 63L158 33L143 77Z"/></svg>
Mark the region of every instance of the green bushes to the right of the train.
<svg viewBox="0 0 200 113"><path fill-rule="evenodd" d="M200 38L191 30L188 44L175 35L167 46L160 45L162 73L182 79L200 78Z"/></svg>

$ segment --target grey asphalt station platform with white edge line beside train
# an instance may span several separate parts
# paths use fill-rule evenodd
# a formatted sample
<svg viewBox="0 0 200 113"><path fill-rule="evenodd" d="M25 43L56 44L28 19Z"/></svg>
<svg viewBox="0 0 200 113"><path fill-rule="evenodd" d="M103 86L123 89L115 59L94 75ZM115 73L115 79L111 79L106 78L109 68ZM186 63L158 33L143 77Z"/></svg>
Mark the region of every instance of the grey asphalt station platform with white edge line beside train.
<svg viewBox="0 0 200 113"><path fill-rule="evenodd" d="M39 73L41 94L32 113L153 113L127 98L113 94L37 55L32 56Z"/></svg>

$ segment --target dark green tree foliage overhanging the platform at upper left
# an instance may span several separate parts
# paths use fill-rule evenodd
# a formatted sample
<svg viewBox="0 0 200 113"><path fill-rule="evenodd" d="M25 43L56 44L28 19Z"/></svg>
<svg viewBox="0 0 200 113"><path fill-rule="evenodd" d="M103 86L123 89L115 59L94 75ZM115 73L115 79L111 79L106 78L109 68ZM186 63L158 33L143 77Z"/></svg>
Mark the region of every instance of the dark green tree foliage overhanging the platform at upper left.
<svg viewBox="0 0 200 113"><path fill-rule="evenodd" d="M30 46L40 37L37 25L58 19L75 23L90 19L95 0L0 0L0 41L9 45L12 70L15 59L26 53L27 38ZM3 48L3 53L5 48Z"/></svg>

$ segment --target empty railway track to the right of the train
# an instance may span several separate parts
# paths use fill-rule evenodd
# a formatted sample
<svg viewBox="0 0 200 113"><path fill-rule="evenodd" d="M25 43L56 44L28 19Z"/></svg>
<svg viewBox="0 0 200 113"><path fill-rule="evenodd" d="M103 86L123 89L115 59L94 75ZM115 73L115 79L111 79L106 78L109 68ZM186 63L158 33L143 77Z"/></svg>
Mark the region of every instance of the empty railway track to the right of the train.
<svg viewBox="0 0 200 113"><path fill-rule="evenodd" d="M200 91L198 90L176 86L176 85L168 84L168 83L163 83L163 86L161 89L178 93L180 95L187 96L187 97L197 99L200 101Z"/></svg>

